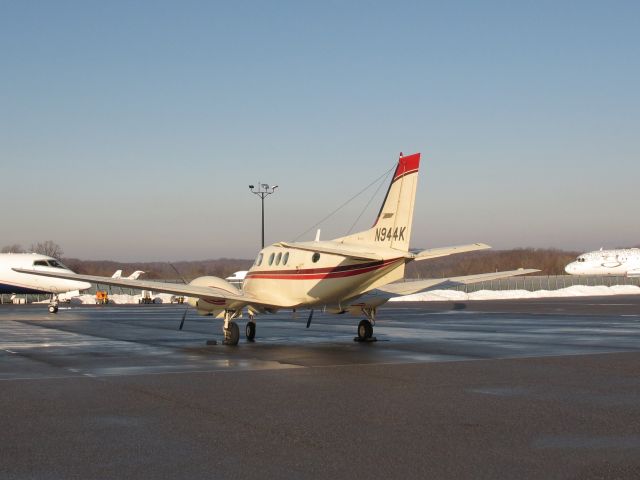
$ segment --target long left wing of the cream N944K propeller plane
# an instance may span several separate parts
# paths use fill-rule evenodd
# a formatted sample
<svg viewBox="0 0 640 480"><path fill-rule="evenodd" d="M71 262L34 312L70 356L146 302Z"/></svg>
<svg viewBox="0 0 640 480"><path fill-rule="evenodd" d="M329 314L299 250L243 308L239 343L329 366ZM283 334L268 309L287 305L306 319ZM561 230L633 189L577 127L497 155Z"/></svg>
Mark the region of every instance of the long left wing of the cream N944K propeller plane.
<svg viewBox="0 0 640 480"><path fill-rule="evenodd" d="M68 280L80 280L83 282L99 283L101 285L113 285L116 287L135 288L139 290L152 290L159 293L172 293L175 295L185 295L188 297L202 298L204 300L230 300L243 302L245 304L263 305L252 296L238 295L231 291L217 287L207 287L200 285L184 285L181 283L154 282L151 280L132 280L128 278L99 277L96 275L81 275L66 272L42 272L24 268L14 268L16 272L28 273L31 275L41 275L43 277L65 278Z"/></svg>

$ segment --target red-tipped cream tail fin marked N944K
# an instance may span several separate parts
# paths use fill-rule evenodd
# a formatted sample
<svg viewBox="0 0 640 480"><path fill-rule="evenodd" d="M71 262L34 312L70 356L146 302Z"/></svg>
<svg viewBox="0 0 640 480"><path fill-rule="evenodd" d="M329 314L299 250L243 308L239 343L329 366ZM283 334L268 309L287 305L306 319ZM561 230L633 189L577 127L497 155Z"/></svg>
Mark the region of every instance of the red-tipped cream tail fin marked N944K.
<svg viewBox="0 0 640 480"><path fill-rule="evenodd" d="M418 185L420 154L400 156L375 224L369 230L337 239L408 251Z"/></svg>

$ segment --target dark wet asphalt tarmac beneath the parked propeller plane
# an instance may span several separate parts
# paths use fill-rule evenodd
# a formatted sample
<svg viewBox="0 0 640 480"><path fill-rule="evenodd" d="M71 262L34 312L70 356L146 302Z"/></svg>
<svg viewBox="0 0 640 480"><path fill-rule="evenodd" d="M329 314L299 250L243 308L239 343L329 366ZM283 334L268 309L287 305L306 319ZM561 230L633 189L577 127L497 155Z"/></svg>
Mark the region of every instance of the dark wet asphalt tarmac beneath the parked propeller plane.
<svg viewBox="0 0 640 480"><path fill-rule="evenodd" d="M0 478L640 478L640 295L183 309L1 305Z"/></svg>

